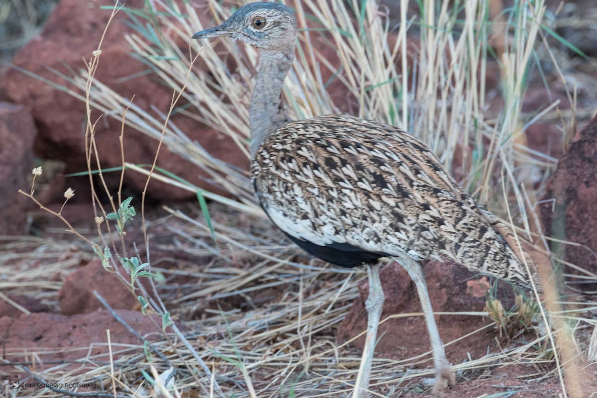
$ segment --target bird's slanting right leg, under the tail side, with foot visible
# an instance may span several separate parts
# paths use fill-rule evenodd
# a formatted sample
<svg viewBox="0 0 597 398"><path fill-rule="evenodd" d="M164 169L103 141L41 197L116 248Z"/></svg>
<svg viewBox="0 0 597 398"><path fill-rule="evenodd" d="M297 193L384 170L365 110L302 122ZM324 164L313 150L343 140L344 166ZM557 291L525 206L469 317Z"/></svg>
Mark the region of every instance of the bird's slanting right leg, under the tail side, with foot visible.
<svg viewBox="0 0 597 398"><path fill-rule="evenodd" d="M427 291L423 266L418 261L404 258L400 259L400 263L408 271L408 274L417 286L418 298L421 301L421 307L423 307L423 314L425 316L425 323L427 323L427 331L429 332L429 340L431 340L433 353L435 383L433 384L432 393L439 397L444 394L448 383L450 385L454 384L454 373L446 358L444 343L442 343L442 339L439 337L438 325L435 323L435 316L433 316L433 308L429 299L429 291Z"/></svg>

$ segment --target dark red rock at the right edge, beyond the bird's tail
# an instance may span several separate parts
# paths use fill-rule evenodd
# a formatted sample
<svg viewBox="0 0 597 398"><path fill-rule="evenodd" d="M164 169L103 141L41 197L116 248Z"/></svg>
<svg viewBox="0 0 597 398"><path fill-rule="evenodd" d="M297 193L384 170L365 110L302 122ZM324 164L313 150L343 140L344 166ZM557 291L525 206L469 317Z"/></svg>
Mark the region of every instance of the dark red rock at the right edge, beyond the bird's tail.
<svg viewBox="0 0 597 398"><path fill-rule="evenodd" d="M597 272L596 164L597 118L593 118L574 136L568 152L547 181L547 192L541 203L546 235L580 244L552 243L556 257L565 256L566 261L592 273ZM572 267L566 267L566 272L583 274ZM584 283L579 287L595 290L597 283Z"/></svg>

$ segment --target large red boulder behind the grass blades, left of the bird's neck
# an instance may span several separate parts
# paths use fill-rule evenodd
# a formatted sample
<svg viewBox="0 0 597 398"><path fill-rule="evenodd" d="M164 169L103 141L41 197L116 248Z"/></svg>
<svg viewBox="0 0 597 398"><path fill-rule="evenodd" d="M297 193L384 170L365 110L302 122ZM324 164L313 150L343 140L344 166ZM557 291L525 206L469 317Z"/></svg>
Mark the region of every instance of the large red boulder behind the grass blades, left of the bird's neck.
<svg viewBox="0 0 597 398"><path fill-rule="evenodd" d="M127 2L128 8L143 7L143 0ZM83 58L89 60L96 50L110 10L100 7L113 6L113 2L102 0L82 2L79 0L61 1L48 17L42 32L25 45L13 59L15 66L54 81L67 88L73 86L59 78L51 70L72 76L73 70L84 69ZM201 14L200 14L201 16ZM165 87L155 75L146 72L147 66L130 55L125 35L134 33L125 23L128 17L124 11L116 17L107 29L102 45L96 80L107 87L132 98L134 104L149 113L167 113L172 98L172 90ZM206 20L207 22L207 20ZM186 46L185 46L186 47ZM200 67L196 65L196 67ZM133 76L133 77L131 77ZM79 172L86 169L84 137L81 133L85 125L85 104L59 88L45 84L39 79L21 73L17 69L5 69L0 78L0 92L8 100L23 104L39 127L39 140L36 145L42 158L61 159L67 162L66 172ZM100 112L92 110L91 118L99 118ZM248 159L242 155L236 144L226 136L196 122L187 116L174 115L171 122L181 129L191 141L198 141L214 156L241 168L248 167ZM97 123L97 145L104 167L121 166L119 134L121 122L103 116ZM132 163L152 163L158 143L133 128L125 128L125 160ZM220 192L207 184L201 177L207 177L191 163L174 155L162 147L158 166L173 172L197 186ZM128 172L127 183L137 191L143 190L146 177L136 172ZM118 184L118 178L114 181ZM195 195L166 184L153 181L149 195L159 199L193 198Z"/></svg>

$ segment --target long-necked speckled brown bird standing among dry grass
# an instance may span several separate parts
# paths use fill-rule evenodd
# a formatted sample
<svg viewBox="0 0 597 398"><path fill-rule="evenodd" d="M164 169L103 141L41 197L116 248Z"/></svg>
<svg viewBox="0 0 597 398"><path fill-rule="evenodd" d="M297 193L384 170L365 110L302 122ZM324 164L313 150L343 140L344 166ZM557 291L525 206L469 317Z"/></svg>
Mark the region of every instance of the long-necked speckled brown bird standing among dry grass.
<svg viewBox="0 0 597 398"><path fill-rule="evenodd" d="M282 97L294 60L297 23L278 2L239 7L193 39L232 38L259 50L250 102L250 178L270 220L304 251L340 267L365 266L367 335L352 392L369 390L385 300L380 259L404 267L417 288L441 396L454 373L427 291L422 261L456 261L531 289L527 267L506 224L461 189L423 142L399 128L350 115L293 121Z"/></svg>

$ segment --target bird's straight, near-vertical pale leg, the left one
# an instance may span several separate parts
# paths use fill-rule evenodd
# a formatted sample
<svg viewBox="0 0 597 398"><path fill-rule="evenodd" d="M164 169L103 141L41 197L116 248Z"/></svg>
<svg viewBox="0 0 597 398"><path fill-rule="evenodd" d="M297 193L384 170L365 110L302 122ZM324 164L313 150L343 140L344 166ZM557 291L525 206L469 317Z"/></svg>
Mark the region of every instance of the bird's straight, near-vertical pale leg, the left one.
<svg viewBox="0 0 597 398"><path fill-rule="evenodd" d="M367 274L369 277L369 296L365 301L365 308L367 308L367 338L365 338L365 348L361 357L359 373L356 375L355 390L352 393L352 398L364 398L368 396L371 362L373 361L373 351L375 350L375 343L377 341L377 326L381 318L383 302L386 300L379 278L379 264L367 264Z"/></svg>

